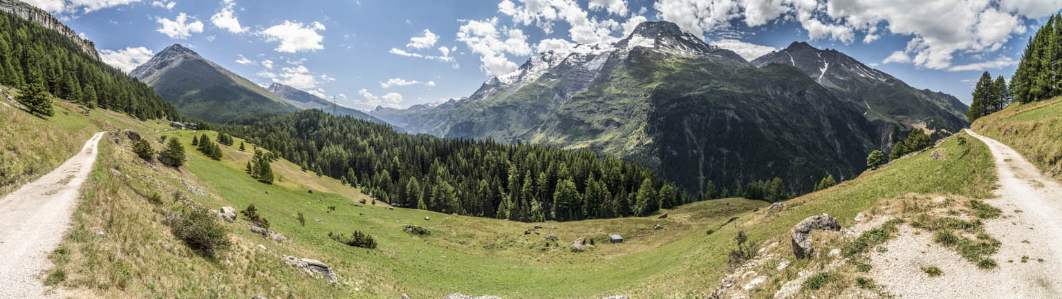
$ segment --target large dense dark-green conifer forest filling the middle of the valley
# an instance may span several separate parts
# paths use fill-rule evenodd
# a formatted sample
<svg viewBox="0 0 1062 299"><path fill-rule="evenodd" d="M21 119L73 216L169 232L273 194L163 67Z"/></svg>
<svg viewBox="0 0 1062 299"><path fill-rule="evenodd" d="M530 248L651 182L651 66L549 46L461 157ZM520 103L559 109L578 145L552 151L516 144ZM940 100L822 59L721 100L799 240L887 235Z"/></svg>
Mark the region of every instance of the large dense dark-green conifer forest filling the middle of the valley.
<svg viewBox="0 0 1062 299"><path fill-rule="evenodd" d="M590 151L406 135L315 109L218 129L398 207L542 222L649 215L690 200L649 170Z"/></svg>

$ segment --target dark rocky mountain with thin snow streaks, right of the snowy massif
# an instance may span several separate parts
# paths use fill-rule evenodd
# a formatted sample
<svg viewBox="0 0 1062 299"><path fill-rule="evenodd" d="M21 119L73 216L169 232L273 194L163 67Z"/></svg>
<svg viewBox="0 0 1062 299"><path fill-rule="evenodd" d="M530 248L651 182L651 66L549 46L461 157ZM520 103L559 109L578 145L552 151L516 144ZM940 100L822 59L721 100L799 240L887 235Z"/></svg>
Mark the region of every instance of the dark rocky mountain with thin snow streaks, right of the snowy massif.
<svg viewBox="0 0 1062 299"><path fill-rule="evenodd" d="M932 137L940 138L970 125L965 119L970 107L955 96L913 88L836 50L819 50L806 42L793 42L752 64L757 67L782 64L800 69L838 98L866 107L867 119L883 131L922 127ZM891 135L883 137L889 139Z"/></svg>

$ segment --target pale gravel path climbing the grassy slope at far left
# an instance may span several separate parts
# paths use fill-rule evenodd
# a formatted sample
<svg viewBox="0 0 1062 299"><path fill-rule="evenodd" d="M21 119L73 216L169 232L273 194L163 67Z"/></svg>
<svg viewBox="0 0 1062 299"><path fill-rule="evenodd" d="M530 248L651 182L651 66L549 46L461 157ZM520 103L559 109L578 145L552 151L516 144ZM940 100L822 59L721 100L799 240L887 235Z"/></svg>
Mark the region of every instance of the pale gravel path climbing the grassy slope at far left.
<svg viewBox="0 0 1062 299"><path fill-rule="evenodd" d="M42 271L67 229L103 134L57 169L0 198L0 298L58 296L41 284Z"/></svg>

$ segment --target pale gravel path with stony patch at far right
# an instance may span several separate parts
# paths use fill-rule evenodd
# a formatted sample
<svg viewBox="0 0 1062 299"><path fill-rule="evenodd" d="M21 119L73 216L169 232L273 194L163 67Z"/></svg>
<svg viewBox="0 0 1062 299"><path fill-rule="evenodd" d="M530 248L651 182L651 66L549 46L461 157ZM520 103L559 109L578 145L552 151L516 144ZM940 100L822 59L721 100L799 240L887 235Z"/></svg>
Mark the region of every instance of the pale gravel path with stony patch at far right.
<svg viewBox="0 0 1062 299"><path fill-rule="evenodd" d="M1004 216L986 221L984 231L1001 243L992 256L998 266L979 269L930 233L904 226L886 252L872 254L871 275L896 298L1062 298L1062 184L1006 144L966 133L984 142L995 160L998 197L986 203ZM944 275L930 278L924 266Z"/></svg>

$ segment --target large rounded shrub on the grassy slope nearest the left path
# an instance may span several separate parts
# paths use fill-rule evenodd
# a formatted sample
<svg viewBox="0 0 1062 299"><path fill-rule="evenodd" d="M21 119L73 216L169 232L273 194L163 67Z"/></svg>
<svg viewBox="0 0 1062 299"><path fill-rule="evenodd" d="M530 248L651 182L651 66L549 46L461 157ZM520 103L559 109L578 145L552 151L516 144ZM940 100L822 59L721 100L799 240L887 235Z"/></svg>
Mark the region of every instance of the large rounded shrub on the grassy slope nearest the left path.
<svg viewBox="0 0 1062 299"><path fill-rule="evenodd" d="M210 256L213 256L216 250L232 245L225 228L218 224L218 216L206 209L182 208L168 215L166 223L177 239L183 240L192 249L203 250Z"/></svg>

